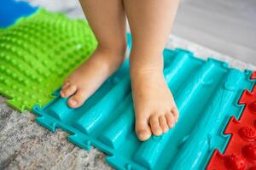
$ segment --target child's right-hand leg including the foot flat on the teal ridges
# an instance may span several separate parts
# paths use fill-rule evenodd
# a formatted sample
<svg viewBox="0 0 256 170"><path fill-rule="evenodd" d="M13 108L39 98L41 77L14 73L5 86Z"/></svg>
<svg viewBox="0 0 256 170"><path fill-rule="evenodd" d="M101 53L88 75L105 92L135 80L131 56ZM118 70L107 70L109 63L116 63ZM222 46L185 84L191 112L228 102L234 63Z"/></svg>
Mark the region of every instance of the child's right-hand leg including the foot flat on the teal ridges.
<svg viewBox="0 0 256 170"><path fill-rule="evenodd" d="M124 0L131 27L131 88L141 140L177 122L177 106L163 76L163 56L178 0Z"/></svg>

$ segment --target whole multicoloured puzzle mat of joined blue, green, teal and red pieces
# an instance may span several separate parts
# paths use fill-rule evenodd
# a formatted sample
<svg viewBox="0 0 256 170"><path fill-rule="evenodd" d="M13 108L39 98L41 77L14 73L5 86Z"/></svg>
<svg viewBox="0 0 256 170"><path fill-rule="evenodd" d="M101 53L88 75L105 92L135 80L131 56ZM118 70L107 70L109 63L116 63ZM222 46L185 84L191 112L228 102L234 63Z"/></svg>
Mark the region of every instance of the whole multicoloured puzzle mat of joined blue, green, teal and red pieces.
<svg viewBox="0 0 256 170"><path fill-rule="evenodd" d="M117 169L256 169L256 72L165 49L164 74L179 121L168 133L141 142L134 130L128 60L84 105L71 109L59 88L96 48L90 26L8 2L5 7L20 11L0 12L0 93L20 113L32 111L40 125L63 129L85 150L102 150Z"/></svg>

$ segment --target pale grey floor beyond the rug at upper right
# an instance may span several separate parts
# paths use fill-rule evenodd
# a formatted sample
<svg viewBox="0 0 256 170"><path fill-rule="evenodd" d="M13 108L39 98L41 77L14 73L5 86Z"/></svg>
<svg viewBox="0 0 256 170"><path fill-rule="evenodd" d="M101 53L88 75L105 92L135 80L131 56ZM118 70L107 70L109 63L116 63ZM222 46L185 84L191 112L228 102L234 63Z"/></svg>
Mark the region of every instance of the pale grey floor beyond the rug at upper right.
<svg viewBox="0 0 256 170"><path fill-rule="evenodd" d="M255 0L182 0L172 33L256 65Z"/></svg>

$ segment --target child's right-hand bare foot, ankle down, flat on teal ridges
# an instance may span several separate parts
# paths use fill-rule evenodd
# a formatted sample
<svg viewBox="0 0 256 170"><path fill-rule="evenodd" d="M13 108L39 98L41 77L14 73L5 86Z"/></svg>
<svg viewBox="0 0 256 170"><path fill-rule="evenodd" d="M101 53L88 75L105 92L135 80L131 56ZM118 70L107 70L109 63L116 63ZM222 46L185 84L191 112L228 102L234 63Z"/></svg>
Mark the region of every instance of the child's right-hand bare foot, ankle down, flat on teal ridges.
<svg viewBox="0 0 256 170"><path fill-rule="evenodd" d="M131 72L131 86L138 139L147 140L152 133L160 136L175 125L177 106L161 69L136 68Z"/></svg>

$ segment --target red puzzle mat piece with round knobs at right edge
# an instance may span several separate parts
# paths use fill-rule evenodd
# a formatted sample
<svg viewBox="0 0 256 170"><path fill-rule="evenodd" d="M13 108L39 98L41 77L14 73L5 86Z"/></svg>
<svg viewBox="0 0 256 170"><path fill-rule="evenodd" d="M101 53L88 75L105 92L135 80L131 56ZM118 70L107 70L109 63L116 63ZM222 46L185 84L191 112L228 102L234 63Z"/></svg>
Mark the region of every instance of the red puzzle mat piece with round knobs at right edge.
<svg viewBox="0 0 256 170"><path fill-rule="evenodd" d="M251 78L256 79L256 71ZM214 150L208 170L256 170L256 86L252 93L244 91L239 104L245 105L240 120L231 117L224 132L231 134L230 143L224 155Z"/></svg>

